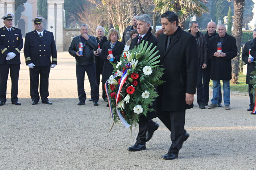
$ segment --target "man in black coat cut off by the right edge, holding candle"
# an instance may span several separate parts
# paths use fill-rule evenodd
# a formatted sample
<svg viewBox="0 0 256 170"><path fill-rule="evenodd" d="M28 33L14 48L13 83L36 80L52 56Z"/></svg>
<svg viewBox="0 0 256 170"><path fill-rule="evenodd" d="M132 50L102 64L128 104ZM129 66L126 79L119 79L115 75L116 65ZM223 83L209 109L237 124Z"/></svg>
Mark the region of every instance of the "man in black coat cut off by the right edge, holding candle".
<svg viewBox="0 0 256 170"><path fill-rule="evenodd" d="M254 40L255 37L256 37L256 28L253 30L253 40L245 42L243 53L242 53L242 59L247 64L246 84L248 84L248 92L250 97L250 105L247 111L253 111L253 107L254 107L253 94L250 93L254 84L250 84L250 80L252 80L251 76L253 76L251 73L252 71L255 70L254 68L255 62L252 62L251 59L249 58L249 49L252 49L255 46L255 40ZM256 60L256 57L254 60Z"/></svg>

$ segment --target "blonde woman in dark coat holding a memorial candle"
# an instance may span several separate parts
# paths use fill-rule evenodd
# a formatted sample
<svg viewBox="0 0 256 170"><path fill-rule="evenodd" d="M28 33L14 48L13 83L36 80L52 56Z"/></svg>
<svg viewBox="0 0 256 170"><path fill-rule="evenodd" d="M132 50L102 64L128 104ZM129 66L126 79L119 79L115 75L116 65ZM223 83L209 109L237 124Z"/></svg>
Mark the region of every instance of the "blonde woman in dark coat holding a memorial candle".
<svg viewBox="0 0 256 170"><path fill-rule="evenodd" d="M102 70L102 79L101 82L105 83L112 74L114 67L110 63L110 55L108 49L112 49L113 59L115 63L120 60L120 56L123 53L124 44L119 42L119 32L117 29L111 28L109 34L107 35L107 42L103 44L100 58L104 60L103 70ZM108 106L108 105L107 105Z"/></svg>

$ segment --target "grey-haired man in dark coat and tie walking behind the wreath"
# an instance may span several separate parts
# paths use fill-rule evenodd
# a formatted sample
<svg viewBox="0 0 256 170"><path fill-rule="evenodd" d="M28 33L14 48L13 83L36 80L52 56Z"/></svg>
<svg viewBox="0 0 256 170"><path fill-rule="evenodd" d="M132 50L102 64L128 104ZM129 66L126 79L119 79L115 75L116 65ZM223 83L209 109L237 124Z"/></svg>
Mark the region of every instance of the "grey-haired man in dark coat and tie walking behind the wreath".
<svg viewBox="0 0 256 170"><path fill-rule="evenodd" d="M150 46L150 44L153 43L152 48L155 47L157 45L158 39L151 33L150 17L146 14L140 15L136 17L136 22L139 35L136 38L132 39L130 50L132 50L135 46L139 45L143 40L145 42L149 42L147 46ZM157 49L155 51L157 51ZM144 115L140 116L138 122L139 133L136 139L136 143L128 148L129 151L139 151L142 149L146 149L146 142L152 138L154 131L156 131L159 126L158 123L151 120L155 117L155 113L147 113L147 117L145 117Z"/></svg>

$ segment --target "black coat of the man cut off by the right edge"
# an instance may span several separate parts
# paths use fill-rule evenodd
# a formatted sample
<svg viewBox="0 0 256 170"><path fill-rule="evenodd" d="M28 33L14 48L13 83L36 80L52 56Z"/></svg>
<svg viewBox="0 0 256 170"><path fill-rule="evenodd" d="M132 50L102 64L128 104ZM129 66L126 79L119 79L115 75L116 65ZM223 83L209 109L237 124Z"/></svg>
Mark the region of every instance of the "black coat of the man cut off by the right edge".
<svg viewBox="0 0 256 170"><path fill-rule="evenodd" d="M246 73L246 84L250 84L250 80L252 80L252 71L255 70L255 62L248 62L249 58L249 49L252 49L254 45L254 40L245 42L243 53L242 53L242 59L247 64L247 73ZM254 57L254 60L256 60L256 56Z"/></svg>

